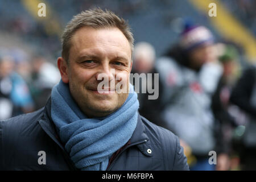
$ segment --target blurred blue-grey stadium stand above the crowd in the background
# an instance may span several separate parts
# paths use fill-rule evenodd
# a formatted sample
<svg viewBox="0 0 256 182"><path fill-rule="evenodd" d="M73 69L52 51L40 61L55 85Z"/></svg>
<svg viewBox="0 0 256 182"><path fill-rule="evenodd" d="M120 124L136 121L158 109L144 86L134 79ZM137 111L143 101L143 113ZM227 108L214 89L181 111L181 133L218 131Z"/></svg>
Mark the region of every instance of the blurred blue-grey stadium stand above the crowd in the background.
<svg viewBox="0 0 256 182"><path fill-rule="evenodd" d="M197 0L200 2L201 0ZM33 2L33 3L32 3ZM38 3L46 3L47 18L36 16ZM194 1L195 2L195 1ZM223 8L256 35L255 1L221 1ZM208 14L193 5L193 1L123 0L123 1L0 1L0 30L17 35L24 43L32 44L40 53L60 55L60 34L73 15L92 7L110 9L129 20L136 42L147 41L156 48L156 56L162 55L179 36L184 19L203 24L212 30L217 39L225 39L213 26ZM242 8L241 8L242 7ZM208 7L206 7L209 9ZM34 13L33 13L34 11ZM218 11L218 10L217 10ZM41 20L40 20L41 19ZM57 27L57 28L56 28ZM221 27L220 27L221 28ZM52 30L51 30L52 29ZM0 36L6 35L0 34ZM255 39L255 38L254 38ZM135 42L135 43L136 43ZM5 42L6 43L6 42ZM23 43L23 44L24 44Z"/></svg>

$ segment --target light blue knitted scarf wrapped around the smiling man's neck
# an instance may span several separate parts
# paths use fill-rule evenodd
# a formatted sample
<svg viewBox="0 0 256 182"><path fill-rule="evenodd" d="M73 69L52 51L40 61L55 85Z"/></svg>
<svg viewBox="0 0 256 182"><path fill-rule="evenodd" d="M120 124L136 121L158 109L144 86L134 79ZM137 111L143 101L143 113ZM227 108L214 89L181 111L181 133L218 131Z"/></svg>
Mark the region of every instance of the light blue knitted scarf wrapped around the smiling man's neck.
<svg viewBox="0 0 256 182"><path fill-rule="evenodd" d="M81 170L106 170L109 158L131 138L137 125L139 102L133 85L125 103L104 118L87 118L60 81L53 87L51 117L75 166Z"/></svg>

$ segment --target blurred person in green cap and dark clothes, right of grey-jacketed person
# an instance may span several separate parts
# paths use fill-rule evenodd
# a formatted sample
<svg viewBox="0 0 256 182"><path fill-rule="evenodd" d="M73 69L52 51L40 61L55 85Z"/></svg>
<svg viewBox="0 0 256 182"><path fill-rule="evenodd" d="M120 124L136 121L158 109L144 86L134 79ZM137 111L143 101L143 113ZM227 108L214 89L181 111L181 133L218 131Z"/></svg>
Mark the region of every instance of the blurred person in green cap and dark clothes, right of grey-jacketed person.
<svg viewBox="0 0 256 182"><path fill-rule="evenodd" d="M217 47L218 52L220 52L219 60L223 67L223 73L212 97L212 110L214 117L220 122L221 146L224 147L223 150L226 153L226 158L222 157L218 160L218 163L223 163L223 165L217 167L226 166L225 168L218 168L223 170L231 167L229 156L234 155L232 138L233 131L238 124L231 111L233 105L230 103L230 95L239 75L239 55L237 48L231 44L220 43Z"/></svg>

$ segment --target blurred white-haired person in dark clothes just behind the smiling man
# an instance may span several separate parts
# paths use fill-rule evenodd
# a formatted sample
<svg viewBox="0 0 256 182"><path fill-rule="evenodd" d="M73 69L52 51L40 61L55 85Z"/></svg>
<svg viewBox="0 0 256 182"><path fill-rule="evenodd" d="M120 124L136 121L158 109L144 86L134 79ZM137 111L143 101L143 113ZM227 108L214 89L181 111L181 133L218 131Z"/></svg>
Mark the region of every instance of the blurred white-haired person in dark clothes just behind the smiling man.
<svg viewBox="0 0 256 182"><path fill-rule="evenodd" d="M156 125L159 124L160 117L159 113L161 111L160 107L160 97L162 95L162 82L159 81L159 77L155 77L155 74L159 74L155 69L155 48L147 42L139 42L134 46L133 52L133 69L131 73L138 73L138 75L144 75L142 77L146 78L139 80L139 113L147 119L151 119L151 122ZM151 75L148 75L150 73ZM152 80L148 81L148 76L152 76ZM131 77L130 80L133 79L133 84L136 84L136 78ZM158 79L158 80L156 80ZM158 82L158 85L154 85L155 81ZM150 84L150 85L148 85ZM156 88L158 86L158 88ZM158 92L158 98L156 100L150 100L148 96L152 95L148 93L147 88L152 88L155 92ZM146 93L142 93L142 90L146 90ZM153 93L156 94L156 93Z"/></svg>

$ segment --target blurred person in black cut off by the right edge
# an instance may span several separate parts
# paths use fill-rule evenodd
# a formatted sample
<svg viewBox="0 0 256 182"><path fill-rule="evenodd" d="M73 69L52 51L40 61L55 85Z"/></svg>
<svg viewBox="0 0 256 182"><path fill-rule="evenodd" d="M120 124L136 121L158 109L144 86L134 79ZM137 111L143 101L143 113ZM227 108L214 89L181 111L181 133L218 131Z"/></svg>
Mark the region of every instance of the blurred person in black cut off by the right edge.
<svg viewBox="0 0 256 182"><path fill-rule="evenodd" d="M256 170L256 65L245 69L230 97L246 116L241 125L241 144L239 147L241 168Z"/></svg>

